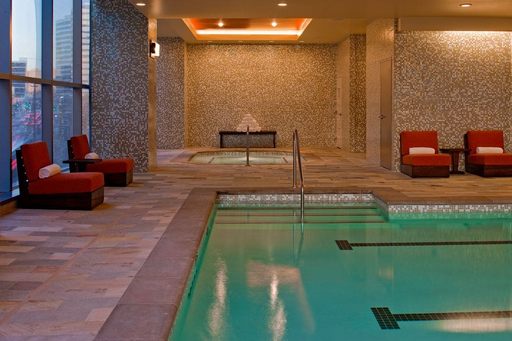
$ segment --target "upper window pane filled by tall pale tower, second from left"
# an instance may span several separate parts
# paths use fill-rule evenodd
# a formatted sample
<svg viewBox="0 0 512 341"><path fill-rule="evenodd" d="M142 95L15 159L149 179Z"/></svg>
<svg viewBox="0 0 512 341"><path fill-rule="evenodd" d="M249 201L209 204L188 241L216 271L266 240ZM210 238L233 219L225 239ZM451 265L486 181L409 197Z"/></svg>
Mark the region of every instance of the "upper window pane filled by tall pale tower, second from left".
<svg viewBox="0 0 512 341"><path fill-rule="evenodd" d="M73 81L72 0L53 0L53 78Z"/></svg>

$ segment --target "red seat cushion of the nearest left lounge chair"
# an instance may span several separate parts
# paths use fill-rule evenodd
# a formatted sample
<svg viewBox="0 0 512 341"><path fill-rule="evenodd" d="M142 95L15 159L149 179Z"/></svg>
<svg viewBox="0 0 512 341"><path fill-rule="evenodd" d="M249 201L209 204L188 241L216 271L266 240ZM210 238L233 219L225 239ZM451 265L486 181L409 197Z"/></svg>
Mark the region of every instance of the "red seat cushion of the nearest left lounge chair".
<svg viewBox="0 0 512 341"><path fill-rule="evenodd" d="M29 183L30 194L91 193L105 183L101 173L60 173Z"/></svg>

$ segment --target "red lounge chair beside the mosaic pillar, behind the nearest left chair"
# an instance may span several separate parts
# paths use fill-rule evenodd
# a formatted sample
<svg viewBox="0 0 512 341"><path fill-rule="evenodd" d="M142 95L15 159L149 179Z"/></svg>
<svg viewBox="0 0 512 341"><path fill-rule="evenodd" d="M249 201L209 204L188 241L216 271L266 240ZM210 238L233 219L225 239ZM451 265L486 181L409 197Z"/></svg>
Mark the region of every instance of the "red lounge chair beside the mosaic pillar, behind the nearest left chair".
<svg viewBox="0 0 512 341"><path fill-rule="evenodd" d="M77 135L68 140L70 159L83 159L91 152L87 135ZM78 171L70 167L71 172ZM105 176L105 186L127 186L133 181L133 158L103 159L96 164L86 165L87 172L100 172Z"/></svg>

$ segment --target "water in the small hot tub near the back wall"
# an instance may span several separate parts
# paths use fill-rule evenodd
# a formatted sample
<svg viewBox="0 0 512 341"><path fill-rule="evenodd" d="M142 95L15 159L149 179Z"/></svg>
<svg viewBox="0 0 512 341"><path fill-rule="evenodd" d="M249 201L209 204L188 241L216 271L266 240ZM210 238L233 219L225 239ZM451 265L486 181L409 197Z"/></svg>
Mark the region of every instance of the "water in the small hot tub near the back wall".
<svg viewBox="0 0 512 341"><path fill-rule="evenodd" d="M305 161L303 157L302 160ZM190 158L190 162L200 164L243 164L247 163L247 155L241 151L199 152ZM276 151L249 152L249 164L291 164L293 153Z"/></svg>

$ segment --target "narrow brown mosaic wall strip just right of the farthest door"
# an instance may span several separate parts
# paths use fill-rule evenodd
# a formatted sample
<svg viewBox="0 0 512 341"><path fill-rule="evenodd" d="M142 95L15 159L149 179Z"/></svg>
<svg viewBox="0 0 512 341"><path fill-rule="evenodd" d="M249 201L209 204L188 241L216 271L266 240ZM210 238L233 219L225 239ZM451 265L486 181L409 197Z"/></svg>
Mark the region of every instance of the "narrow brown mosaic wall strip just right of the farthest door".
<svg viewBox="0 0 512 341"><path fill-rule="evenodd" d="M350 151L366 150L366 35L350 35Z"/></svg>

